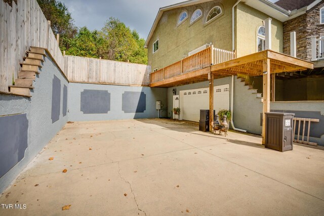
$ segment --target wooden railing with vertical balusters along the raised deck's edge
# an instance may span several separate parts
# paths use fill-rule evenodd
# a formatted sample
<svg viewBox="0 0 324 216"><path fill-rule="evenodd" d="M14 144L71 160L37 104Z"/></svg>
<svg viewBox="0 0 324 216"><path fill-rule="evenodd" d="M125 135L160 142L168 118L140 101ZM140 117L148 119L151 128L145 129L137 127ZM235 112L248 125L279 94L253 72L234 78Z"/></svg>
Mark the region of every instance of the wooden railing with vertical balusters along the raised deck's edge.
<svg viewBox="0 0 324 216"><path fill-rule="evenodd" d="M235 52L210 46L167 67L150 74L151 83L209 67L235 58Z"/></svg>

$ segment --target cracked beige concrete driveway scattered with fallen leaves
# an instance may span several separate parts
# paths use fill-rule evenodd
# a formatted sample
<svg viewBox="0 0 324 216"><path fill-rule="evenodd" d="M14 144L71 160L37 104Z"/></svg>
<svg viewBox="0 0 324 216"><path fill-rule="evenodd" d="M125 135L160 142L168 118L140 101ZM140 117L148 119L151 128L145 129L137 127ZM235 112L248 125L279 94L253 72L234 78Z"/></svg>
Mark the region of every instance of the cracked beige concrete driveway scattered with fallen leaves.
<svg viewBox="0 0 324 216"><path fill-rule="evenodd" d="M324 148L281 153L259 136L197 128L163 119L68 123L0 197L26 209L0 206L0 214L324 214Z"/></svg>

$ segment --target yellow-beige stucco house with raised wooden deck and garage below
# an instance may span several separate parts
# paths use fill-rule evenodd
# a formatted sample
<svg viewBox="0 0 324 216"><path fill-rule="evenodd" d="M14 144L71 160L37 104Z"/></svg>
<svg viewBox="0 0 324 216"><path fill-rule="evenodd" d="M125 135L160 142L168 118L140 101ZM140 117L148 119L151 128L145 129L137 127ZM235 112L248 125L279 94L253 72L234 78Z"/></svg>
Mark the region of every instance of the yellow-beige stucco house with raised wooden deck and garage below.
<svg viewBox="0 0 324 216"><path fill-rule="evenodd" d="M318 12L323 1L293 2L191 0L161 8L145 47L152 68L150 86L168 88L168 115L199 121L200 109L229 109L231 127L254 134L264 134L262 119L270 110L323 121L323 74L306 62L311 49L299 45L302 33L289 27L303 14ZM305 23L308 27L299 26L302 31L314 28ZM291 31L298 35L298 59L288 49ZM265 59L270 59L269 68ZM265 72L269 70L271 76ZM174 107L180 108L180 116L173 115ZM316 130L310 136L323 143L324 132L312 132Z"/></svg>

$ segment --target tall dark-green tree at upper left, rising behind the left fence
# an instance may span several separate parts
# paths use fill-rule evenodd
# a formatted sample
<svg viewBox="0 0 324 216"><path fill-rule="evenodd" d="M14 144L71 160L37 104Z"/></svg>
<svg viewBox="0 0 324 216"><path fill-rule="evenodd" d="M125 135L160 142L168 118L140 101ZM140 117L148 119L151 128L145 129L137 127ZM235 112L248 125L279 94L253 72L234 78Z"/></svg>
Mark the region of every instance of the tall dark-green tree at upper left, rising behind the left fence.
<svg viewBox="0 0 324 216"><path fill-rule="evenodd" d="M69 48L70 39L77 33L71 13L67 7L56 0L37 0L47 20L51 21L54 34L60 34L59 46L61 51Z"/></svg>

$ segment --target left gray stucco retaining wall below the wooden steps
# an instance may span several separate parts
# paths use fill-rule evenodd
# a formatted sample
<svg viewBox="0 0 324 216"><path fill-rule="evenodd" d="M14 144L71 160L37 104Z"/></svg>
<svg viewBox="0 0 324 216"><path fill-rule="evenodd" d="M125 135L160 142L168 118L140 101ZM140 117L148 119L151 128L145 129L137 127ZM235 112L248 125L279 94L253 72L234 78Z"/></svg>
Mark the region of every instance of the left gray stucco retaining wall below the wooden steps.
<svg viewBox="0 0 324 216"><path fill-rule="evenodd" d="M10 117L10 115L26 113L28 120L28 142L24 157L0 178L0 191L10 185L22 169L60 131L67 121L67 116L63 117L62 110L63 87L64 85L68 87L68 81L48 55L44 60L43 67L39 70L40 74L33 81L34 89L31 91L31 98L0 94L0 118L1 116L9 115L8 117ZM61 97L60 104L56 104L60 107L59 119L52 123L52 82L54 75L59 78L61 83ZM6 125L0 125L0 128L6 128ZM4 142L5 145L6 141ZM11 157L11 155L8 155L8 157Z"/></svg>

